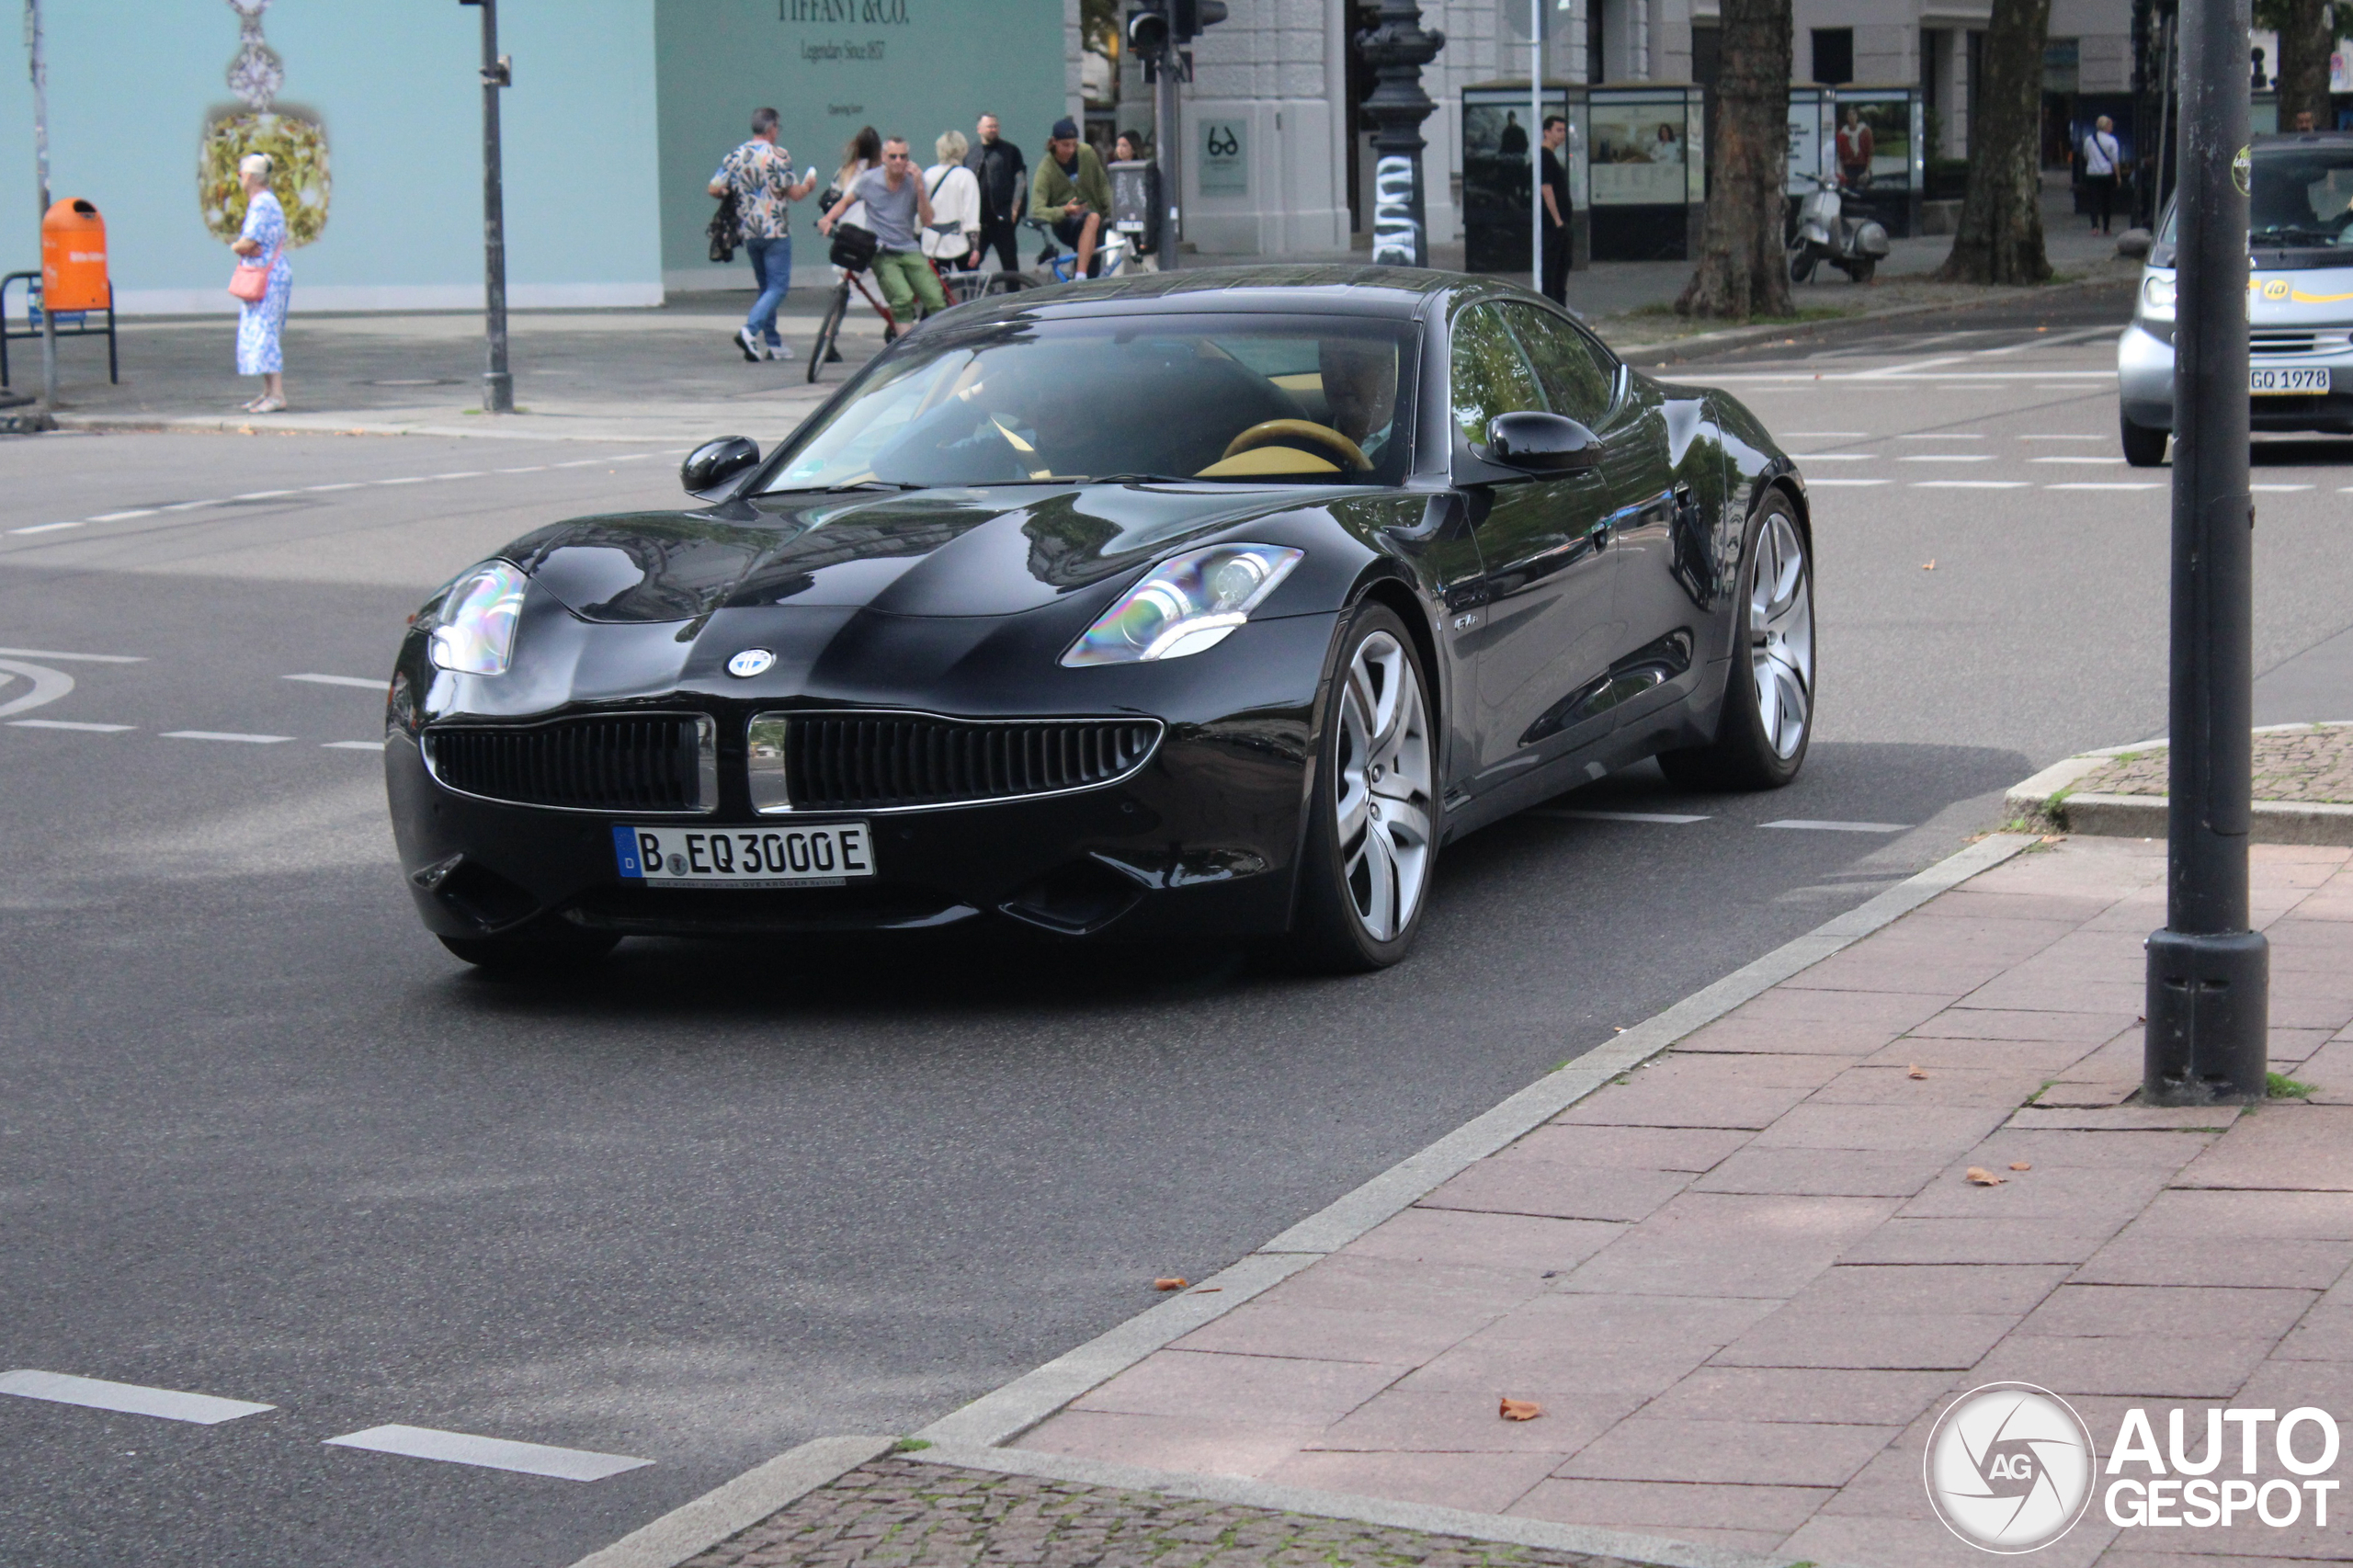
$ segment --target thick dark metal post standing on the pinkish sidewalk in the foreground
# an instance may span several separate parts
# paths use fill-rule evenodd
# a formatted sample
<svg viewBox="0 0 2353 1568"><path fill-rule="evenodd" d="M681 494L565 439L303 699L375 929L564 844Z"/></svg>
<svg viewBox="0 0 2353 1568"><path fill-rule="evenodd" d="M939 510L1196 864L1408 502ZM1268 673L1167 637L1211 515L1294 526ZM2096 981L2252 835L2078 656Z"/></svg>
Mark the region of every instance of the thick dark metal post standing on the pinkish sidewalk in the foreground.
<svg viewBox="0 0 2353 1568"><path fill-rule="evenodd" d="M2247 490L2247 0L2181 5L2165 930L2141 1099L2264 1097L2268 944L2247 928L2254 501Z"/></svg>

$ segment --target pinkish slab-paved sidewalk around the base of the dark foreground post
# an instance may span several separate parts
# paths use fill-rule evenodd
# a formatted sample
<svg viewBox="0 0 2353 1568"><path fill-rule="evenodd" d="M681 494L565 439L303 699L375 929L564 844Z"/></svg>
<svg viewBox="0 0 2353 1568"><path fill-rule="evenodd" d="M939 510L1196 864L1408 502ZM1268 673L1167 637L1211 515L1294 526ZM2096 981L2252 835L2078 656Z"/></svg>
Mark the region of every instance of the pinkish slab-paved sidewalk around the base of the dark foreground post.
<svg viewBox="0 0 2353 1568"><path fill-rule="evenodd" d="M2273 1067L2311 1102L2115 1104L2162 845L2066 841L1708 1024L1021 1446L1911 1566L1986 1561L1920 1483L1960 1389L2049 1387L2104 1450L2127 1406L2160 1431L2191 1406L2193 1434L2219 1401L2348 1415L2348 855L2254 850ZM1544 1415L1504 1422L1499 1396ZM2118 1530L2094 1504L2035 1561L2346 1561L2348 1514Z"/></svg>

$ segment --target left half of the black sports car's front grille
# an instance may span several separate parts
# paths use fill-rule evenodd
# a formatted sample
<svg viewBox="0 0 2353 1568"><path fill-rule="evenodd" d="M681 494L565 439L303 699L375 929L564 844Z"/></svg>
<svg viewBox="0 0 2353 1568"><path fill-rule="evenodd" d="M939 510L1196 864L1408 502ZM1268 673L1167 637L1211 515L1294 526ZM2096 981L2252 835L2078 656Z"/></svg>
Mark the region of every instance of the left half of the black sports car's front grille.
<svg viewBox="0 0 2353 1568"><path fill-rule="evenodd" d="M574 812L708 812L718 725L704 713L598 713L544 725L456 725L424 735L449 789Z"/></svg>

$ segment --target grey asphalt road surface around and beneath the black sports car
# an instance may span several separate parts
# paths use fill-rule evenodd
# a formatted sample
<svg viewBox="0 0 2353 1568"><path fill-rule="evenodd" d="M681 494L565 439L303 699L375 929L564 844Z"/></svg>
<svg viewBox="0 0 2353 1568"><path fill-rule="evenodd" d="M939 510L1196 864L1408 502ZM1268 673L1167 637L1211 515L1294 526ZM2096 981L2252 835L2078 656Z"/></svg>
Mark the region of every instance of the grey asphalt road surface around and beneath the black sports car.
<svg viewBox="0 0 2353 1568"><path fill-rule="evenodd" d="M376 692L289 676L379 678L435 582L666 501L675 452L0 445L0 673L75 683L14 711L38 676L0 683L0 1368L275 1406L0 1398L0 1561L569 1563L795 1441L984 1394L1946 855L2026 772L2162 730L2165 490L2113 485L2165 476L2104 461L2115 313L1682 367L1814 454L1805 777L1694 798L1642 768L1558 805L1704 819L1489 829L1412 961L1348 982L974 942L633 942L485 982L398 885L346 744ZM2257 478L2285 485L2259 669L2294 669L2353 645L2353 443L2266 443ZM2348 690L2329 669L2306 706ZM325 1443L379 1424L652 1464Z"/></svg>

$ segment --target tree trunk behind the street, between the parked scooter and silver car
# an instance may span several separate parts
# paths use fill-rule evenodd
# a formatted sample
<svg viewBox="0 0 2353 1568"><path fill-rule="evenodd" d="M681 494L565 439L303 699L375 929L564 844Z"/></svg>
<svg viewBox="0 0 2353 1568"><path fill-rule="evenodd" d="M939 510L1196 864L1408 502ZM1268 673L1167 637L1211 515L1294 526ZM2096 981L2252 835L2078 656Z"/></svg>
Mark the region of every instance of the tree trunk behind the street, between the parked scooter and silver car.
<svg viewBox="0 0 2353 1568"><path fill-rule="evenodd" d="M1969 118L1969 188L1960 198L1946 283L2042 283L2042 45L2052 0L1993 0L1986 80Z"/></svg>

